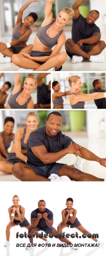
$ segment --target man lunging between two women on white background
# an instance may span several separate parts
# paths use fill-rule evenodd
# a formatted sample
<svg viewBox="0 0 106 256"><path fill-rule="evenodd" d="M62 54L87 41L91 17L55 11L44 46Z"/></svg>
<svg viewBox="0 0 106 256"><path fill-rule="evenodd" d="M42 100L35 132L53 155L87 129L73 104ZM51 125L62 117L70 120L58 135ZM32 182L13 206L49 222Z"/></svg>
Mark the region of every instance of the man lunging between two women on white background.
<svg viewBox="0 0 106 256"><path fill-rule="evenodd" d="M46 234L53 234L53 236L57 234L57 230L53 228L53 212L46 208L44 200L40 200L38 202L38 208L31 212L31 226L29 227L28 233L35 234L35 232L38 232L39 230L44 231ZM71 244L65 237L58 237L58 239L64 243ZM33 236L29 238L29 240L33 243ZM31 249L31 246L26 247L26 249ZM70 249L75 248L74 246L71 246Z"/></svg>

